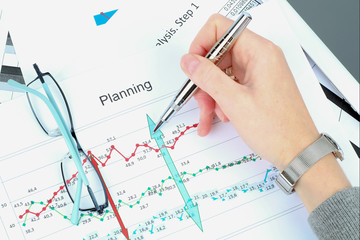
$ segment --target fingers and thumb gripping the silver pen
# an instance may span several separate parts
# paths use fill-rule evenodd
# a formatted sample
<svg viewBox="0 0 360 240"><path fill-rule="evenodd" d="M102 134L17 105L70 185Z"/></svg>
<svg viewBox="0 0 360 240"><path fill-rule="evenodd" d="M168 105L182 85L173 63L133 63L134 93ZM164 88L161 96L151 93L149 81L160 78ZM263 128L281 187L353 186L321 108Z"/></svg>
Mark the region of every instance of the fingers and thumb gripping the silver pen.
<svg viewBox="0 0 360 240"><path fill-rule="evenodd" d="M183 56L181 60L181 67L185 74L208 94L198 91L199 94L195 95L200 108L198 126L200 136L208 134L215 114L223 122L229 121L227 116L232 118L234 98L242 96L245 85L248 86L249 81L256 79L247 72L247 69L251 62L256 62L252 60L263 56L260 52L263 49L261 46L268 44L266 39L245 29L219 66L201 57L206 55L232 23L232 20L219 14L210 17L192 42L190 54ZM232 67L232 73L237 82L221 70L228 67Z"/></svg>

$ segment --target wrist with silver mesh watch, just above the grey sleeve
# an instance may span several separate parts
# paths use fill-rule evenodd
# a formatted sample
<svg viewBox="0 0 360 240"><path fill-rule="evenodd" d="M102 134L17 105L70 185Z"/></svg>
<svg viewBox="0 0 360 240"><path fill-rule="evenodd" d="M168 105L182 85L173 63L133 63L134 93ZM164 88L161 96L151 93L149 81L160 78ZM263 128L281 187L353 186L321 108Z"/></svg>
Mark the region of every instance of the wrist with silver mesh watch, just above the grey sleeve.
<svg viewBox="0 0 360 240"><path fill-rule="evenodd" d="M341 148L327 134L307 146L276 179L287 194L296 190L311 212L337 191L350 187L337 159L343 160Z"/></svg>

